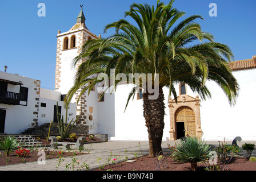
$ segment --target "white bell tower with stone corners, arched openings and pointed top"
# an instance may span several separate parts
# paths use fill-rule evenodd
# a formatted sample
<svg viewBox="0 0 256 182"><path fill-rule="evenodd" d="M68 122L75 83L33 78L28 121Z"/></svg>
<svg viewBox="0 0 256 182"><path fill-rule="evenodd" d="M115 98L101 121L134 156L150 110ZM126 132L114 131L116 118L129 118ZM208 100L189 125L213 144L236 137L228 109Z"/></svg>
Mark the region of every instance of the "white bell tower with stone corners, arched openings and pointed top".
<svg viewBox="0 0 256 182"><path fill-rule="evenodd" d="M77 22L69 31L57 35L57 54L56 54L56 69L55 69L55 90L66 95L69 89L74 85L75 72L78 66L73 68L72 60L79 55L83 44L90 39L98 39L99 37L93 34L85 26L85 15L83 14L83 6L77 16ZM86 60L80 60L78 64ZM71 102L76 103L79 92L75 94ZM86 125L86 96L82 96L77 105L77 115L80 115L80 120L77 124Z"/></svg>

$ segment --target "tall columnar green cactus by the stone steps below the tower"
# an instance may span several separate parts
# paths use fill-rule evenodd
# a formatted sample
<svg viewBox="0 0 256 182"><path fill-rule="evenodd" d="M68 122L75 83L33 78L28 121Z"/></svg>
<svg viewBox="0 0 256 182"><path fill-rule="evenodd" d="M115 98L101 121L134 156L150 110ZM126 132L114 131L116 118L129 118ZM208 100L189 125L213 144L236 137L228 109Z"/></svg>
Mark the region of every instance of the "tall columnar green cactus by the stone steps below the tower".
<svg viewBox="0 0 256 182"><path fill-rule="evenodd" d="M71 129L74 127L75 122L77 122L77 119L79 119L79 117L80 117L80 115L79 115L75 119L75 121L73 121L74 118L72 118L72 120L69 122L69 124L67 124L67 110L70 107L66 106L65 108L66 108L66 118L65 118L65 123L64 123L63 115L61 117L61 114L59 113L59 110L58 110L58 102L57 102L58 129L59 129L59 132L61 133L62 139L66 139L69 136L69 133L70 133Z"/></svg>

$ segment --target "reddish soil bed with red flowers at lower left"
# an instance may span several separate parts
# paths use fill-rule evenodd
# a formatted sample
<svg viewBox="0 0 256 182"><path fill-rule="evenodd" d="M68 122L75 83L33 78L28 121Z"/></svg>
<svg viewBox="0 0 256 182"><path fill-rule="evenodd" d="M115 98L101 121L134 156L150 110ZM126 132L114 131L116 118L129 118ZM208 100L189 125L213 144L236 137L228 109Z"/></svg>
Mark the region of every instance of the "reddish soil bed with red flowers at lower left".
<svg viewBox="0 0 256 182"><path fill-rule="evenodd" d="M26 148L27 149L27 148ZM73 151L67 152L65 151L64 154L59 154L59 151L45 151L46 152L46 160L47 159L57 159L59 156L65 157L71 157L74 156ZM9 156L5 155L4 151L1 151L0 154L0 166L5 166L8 164L18 164L18 163L24 163L24 162L34 162L37 161L37 159L40 157L40 155L37 155L38 151L30 151L30 154L25 158L25 161L22 162L22 158L17 156L15 154L15 151L11 152ZM82 152L76 152L77 155L85 155L87 153Z"/></svg>

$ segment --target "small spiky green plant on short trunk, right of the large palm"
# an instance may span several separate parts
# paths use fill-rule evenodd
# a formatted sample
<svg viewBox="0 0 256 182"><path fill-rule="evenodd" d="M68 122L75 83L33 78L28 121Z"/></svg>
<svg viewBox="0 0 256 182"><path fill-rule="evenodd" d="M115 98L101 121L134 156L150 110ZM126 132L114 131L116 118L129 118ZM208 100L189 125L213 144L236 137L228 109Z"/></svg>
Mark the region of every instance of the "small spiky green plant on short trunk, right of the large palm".
<svg viewBox="0 0 256 182"><path fill-rule="evenodd" d="M203 140L189 137L181 140L175 148L173 158L177 162L189 162L193 171L197 170L197 163L210 158L211 147Z"/></svg>

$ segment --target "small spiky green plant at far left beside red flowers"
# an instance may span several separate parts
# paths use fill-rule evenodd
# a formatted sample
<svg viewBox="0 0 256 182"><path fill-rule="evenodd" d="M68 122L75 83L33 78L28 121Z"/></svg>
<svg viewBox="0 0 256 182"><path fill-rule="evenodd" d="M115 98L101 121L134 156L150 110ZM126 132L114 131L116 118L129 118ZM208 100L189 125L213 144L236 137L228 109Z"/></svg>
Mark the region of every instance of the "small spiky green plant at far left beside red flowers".
<svg viewBox="0 0 256 182"><path fill-rule="evenodd" d="M0 141L0 148L5 150L6 156L9 156L10 152L18 148L19 142L14 137L6 136Z"/></svg>

